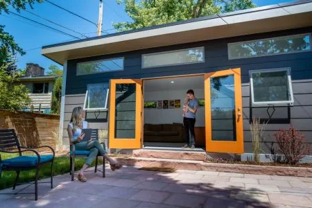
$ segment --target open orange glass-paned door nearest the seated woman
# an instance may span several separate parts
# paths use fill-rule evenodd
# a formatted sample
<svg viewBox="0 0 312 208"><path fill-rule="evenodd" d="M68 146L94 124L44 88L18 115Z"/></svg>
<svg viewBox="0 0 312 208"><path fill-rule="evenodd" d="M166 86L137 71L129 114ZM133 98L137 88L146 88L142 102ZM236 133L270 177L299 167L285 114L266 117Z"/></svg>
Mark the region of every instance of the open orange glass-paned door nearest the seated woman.
<svg viewBox="0 0 312 208"><path fill-rule="evenodd" d="M142 81L110 80L109 148L141 148Z"/></svg>

